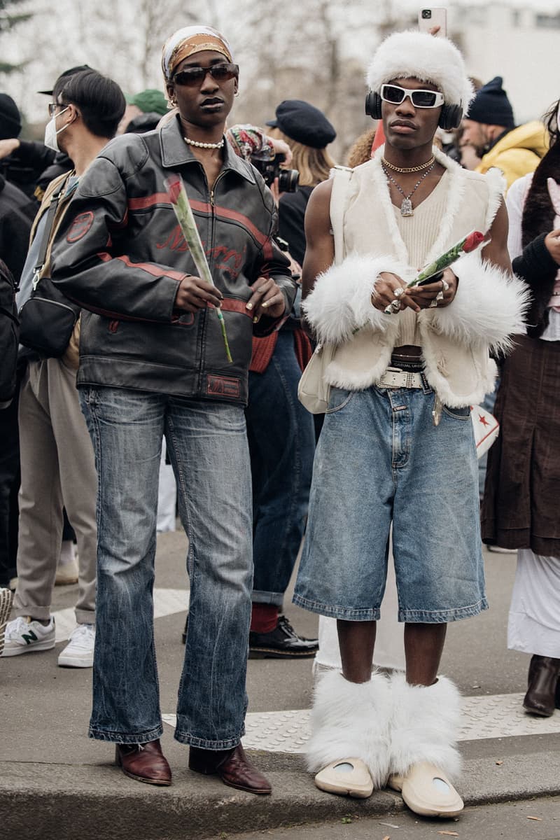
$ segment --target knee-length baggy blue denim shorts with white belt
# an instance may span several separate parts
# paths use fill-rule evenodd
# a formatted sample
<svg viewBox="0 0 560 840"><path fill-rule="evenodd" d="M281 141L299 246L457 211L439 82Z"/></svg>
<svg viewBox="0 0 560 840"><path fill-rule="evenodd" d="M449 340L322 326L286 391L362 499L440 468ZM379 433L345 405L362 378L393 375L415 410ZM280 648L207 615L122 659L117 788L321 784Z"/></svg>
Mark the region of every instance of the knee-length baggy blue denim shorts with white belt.
<svg viewBox="0 0 560 840"><path fill-rule="evenodd" d="M317 447L294 602L376 621L390 526L401 622L450 622L487 608L469 408L423 388L332 388Z"/></svg>

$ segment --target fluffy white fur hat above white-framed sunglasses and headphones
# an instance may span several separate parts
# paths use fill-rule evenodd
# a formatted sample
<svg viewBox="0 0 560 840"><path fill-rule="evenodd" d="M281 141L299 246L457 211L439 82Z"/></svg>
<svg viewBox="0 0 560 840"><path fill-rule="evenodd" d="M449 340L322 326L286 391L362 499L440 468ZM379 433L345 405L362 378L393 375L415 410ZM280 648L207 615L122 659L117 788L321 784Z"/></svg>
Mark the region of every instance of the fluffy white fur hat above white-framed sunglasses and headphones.
<svg viewBox="0 0 560 840"><path fill-rule="evenodd" d="M431 81L447 105L461 105L466 113L474 88L465 70L463 55L447 38L425 32L395 32L379 45L369 65L366 81L372 91L393 79Z"/></svg>

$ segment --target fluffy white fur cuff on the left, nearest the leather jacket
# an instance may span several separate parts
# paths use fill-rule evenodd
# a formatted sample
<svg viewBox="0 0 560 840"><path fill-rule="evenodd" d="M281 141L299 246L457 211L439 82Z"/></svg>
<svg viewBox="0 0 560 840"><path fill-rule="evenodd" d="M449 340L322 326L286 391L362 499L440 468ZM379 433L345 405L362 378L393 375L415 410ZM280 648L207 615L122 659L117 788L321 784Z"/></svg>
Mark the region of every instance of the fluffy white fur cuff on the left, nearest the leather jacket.
<svg viewBox="0 0 560 840"><path fill-rule="evenodd" d="M301 308L319 341L339 344L352 338L353 331L367 323L381 332L389 326L391 316L371 303L375 282L382 271L392 271L405 282L414 276L410 266L395 257L353 254L317 277Z"/></svg>

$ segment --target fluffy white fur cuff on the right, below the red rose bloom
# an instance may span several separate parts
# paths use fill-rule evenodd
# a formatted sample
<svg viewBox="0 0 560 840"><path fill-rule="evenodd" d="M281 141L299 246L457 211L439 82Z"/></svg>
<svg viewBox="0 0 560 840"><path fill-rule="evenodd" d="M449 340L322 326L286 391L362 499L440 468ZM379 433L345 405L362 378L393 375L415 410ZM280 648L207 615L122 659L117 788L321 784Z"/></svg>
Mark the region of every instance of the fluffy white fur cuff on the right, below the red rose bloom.
<svg viewBox="0 0 560 840"><path fill-rule="evenodd" d="M513 336L526 332L523 318L531 298L526 284L478 253L462 257L453 270L459 278L457 295L448 307L428 310L433 328L461 344L479 342L507 353Z"/></svg>

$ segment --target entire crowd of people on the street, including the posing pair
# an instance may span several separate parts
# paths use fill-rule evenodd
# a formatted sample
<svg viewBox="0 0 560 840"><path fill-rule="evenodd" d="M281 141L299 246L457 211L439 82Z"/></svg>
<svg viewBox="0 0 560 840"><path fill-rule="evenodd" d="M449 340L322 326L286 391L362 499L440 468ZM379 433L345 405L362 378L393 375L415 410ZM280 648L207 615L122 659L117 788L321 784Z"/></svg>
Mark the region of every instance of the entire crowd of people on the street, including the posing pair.
<svg viewBox="0 0 560 840"><path fill-rule="evenodd" d="M216 29L177 30L161 64L165 95L62 72L44 144L19 139L0 93L0 281L22 342L0 404L0 654L54 648L54 586L77 580L58 664L92 668L89 735L129 777L171 784L153 610L165 443L189 540L175 738L190 769L270 794L241 743L247 659L317 654L283 614L303 543L294 602L336 621L340 657L311 712L317 787L388 785L456 816L460 700L439 665L447 623L488 609L483 543L517 552L524 708L560 708L560 102L516 126L500 76L471 79L446 38L391 34L367 71L374 128L337 167L309 102L228 127L239 67ZM472 232L477 249L416 284ZM327 392L315 417L303 370ZM496 381L482 492L471 412ZM404 665L386 673L390 544Z"/></svg>

